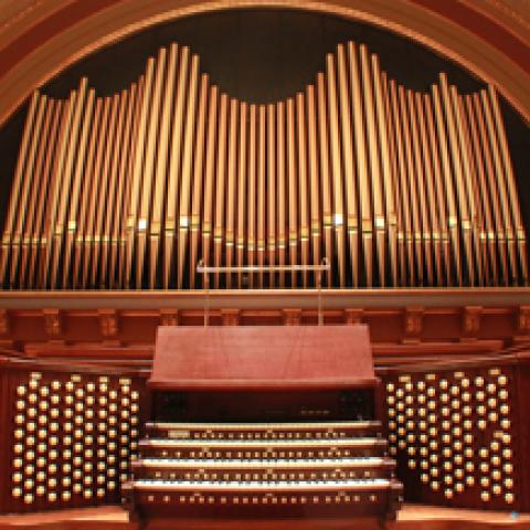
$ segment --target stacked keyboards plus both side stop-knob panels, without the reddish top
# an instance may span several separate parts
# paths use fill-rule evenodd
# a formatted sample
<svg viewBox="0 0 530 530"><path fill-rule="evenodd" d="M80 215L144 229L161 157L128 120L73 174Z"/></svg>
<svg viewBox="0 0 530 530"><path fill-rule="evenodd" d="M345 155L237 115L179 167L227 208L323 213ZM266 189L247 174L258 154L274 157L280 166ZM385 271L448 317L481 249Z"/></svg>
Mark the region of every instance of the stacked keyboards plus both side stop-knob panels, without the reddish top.
<svg viewBox="0 0 530 530"><path fill-rule="evenodd" d="M283 506L290 515L381 516L399 506L400 490L386 484L394 474L407 501L528 511L528 361L524 349L379 361L378 404L371 386L148 390L150 370L4 354L0 473L9 478L0 511L116 504L130 498L131 474L146 512L180 506L192 516L220 502L226 513ZM176 483L189 489L171 489ZM222 490L229 483L237 492ZM322 484L335 489L315 488Z"/></svg>

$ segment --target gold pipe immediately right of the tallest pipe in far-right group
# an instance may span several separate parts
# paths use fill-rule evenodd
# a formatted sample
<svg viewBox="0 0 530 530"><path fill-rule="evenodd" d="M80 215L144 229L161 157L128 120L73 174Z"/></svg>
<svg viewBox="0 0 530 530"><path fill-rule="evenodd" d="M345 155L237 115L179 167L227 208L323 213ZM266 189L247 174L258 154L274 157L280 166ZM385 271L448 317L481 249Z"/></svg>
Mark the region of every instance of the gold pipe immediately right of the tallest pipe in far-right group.
<svg viewBox="0 0 530 530"><path fill-rule="evenodd" d="M456 87L451 88L453 102L455 106L455 115L459 130L459 139L462 146L462 158L464 162L464 177L467 182L467 193L469 197L469 208L471 212L471 229L475 244L475 254L477 259L479 284L485 284L485 265L486 265L486 232L484 227L484 214L481 201L478 197L477 168L471 153L471 139L469 131L469 121L464 110L463 97L458 96Z"/></svg>

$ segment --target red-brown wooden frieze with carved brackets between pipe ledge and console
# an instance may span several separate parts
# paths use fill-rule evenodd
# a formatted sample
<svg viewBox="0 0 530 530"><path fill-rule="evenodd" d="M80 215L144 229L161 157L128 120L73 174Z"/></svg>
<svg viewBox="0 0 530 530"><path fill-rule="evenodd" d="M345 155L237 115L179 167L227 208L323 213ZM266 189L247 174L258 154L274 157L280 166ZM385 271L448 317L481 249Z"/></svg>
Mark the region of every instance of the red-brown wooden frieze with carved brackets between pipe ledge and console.
<svg viewBox="0 0 530 530"><path fill-rule="evenodd" d="M298 295L296 300L303 298ZM237 307L234 304L236 299L232 295L232 304L227 303L211 311L210 324L212 326L316 324L314 297L306 298L307 307L282 307L284 298L278 296L276 307L272 307L274 297L263 296L263 309L259 310L254 308L258 303L257 299L253 300L252 305L247 305L247 297L241 295ZM342 307L337 307L335 304L329 304L332 307L324 309L324 321L326 325L335 326L362 322L370 327L370 337L374 347L392 348L404 344L403 348L406 349L406 344L417 342L462 346L494 340L499 343L497 350L501 350L513 342L530 342L529 304L517 306L499 304L496 307L483 304L431 306L424 303L426 298L423 292L418 290L417 300L421 299L422 306L409 304L400 307L398 304L391 304L392 297L378 298L378 305L344 304ZM312 306L309 306L311 299ZM149 304L153 303L149 297L146 297L146 300ZM39 307L35 301L39 300L26 300L25 307L2 308L0 312L0 322L3 319L3 335L0 333L1 346L12 348L12 344L15 344L20 351L25 351L28 348L55 347L57 341L64 341L72 348L86 348L87 344L96 347L102 343L110 347L117 346L116 341L119 341L119 346L144 349L155 343L158 326L203 326L204 324L202 308L165 307L162 299L158 299L161 303L158 308L145 307L135 303L136 300L130 300L127 307L106 305L108 309L103 311L100 307ZM223 301L226 299L223 298ZM481 312L474 310L475 307L481 308ZM466 316L467 325L465 325ZM477 319L480 321L478 330Z"/></svg>

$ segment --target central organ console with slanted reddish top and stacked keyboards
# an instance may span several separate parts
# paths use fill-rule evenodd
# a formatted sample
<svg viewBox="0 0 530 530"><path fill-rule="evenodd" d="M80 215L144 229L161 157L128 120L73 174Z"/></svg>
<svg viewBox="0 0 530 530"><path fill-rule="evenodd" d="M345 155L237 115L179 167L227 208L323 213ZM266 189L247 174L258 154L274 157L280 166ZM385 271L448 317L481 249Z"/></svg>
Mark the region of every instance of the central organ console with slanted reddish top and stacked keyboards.
<svg viewBox="0 0 530 530"><path fill-rule="evenodd" d="M148 386L140 517L395 517L365 327L160 328Z"/></svg>

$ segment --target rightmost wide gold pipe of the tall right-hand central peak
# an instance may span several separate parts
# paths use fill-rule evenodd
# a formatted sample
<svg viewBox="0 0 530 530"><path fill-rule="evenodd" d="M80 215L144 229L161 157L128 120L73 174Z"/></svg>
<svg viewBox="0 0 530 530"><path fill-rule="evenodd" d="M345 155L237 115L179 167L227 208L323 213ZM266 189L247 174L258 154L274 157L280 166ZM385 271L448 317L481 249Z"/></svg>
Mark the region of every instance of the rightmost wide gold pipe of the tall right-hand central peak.
<svg viewBox="0 0 530 530"><path fill-rule="evenodd" d="M391 268L391 278L392 285L398 285L398 214L395 206L395 192L394 192L394 182L392 174L391 159L392 153L389 145L389 134L388 134L388 118L386 114L389 112L383 97L383 80L379 65L379 57L375 54L371 55L372 59L372 76L373 76L373 88L375 97L375 107L377 107L377 123L379 129L379 144L380 144L380 157L381 157L381 173L382 182L384 190L384 204L386 212L386 232L389 239L389 253L390 253L390 268ZM378 229L378 227L375 227ZM384 235L384 232L383 232ZM384 261L383 261L384 263ZM381 274L381 273L380 273ZM384 274L380 279L381 286L385 285Z"/></svg>

